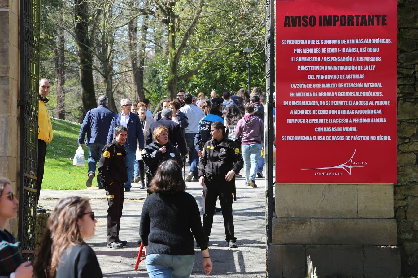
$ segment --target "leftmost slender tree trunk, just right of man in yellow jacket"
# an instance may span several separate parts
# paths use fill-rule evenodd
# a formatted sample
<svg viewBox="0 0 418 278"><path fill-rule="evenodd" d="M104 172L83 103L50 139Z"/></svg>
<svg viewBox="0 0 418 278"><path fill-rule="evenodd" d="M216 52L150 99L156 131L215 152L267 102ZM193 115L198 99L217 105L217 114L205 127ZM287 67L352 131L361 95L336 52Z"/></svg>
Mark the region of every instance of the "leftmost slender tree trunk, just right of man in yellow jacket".
<svg viewBox="0 0 418 278"><path fill-rule="evenodd" d="M65 48L65 38L64 38L64 20L61 11L59 24L59 37L58 37L58 50L57 53L57 68L56 68L56 113L59 119L65 119L65 55L64 55L64 48Z"/></svg>

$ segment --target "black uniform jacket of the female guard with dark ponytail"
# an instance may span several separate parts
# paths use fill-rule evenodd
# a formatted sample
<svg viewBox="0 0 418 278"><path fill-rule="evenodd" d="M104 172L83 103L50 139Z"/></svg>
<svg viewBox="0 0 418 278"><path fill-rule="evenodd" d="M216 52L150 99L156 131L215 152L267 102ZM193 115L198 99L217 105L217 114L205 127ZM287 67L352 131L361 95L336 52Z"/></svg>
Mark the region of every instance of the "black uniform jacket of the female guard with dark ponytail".
<svg viewBox="0 0 418 278"><path fill-rule="evenodd" d="M234 141L211 139L205 143L199 160L199 177L206 175L206 178L224 180L231 169L239 173L243 165L240 149Z"/></svg>

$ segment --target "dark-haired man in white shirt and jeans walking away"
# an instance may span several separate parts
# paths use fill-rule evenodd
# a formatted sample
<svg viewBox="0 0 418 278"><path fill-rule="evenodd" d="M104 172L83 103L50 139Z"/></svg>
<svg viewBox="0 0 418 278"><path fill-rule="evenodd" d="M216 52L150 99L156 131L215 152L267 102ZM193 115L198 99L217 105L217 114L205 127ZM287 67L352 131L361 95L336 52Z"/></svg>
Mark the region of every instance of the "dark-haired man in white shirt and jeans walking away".
<svg viewBox="0 0 418 278"><path fill-rule="evenodd" d="M183 99L185 105L180 108L180 111L183 112L187 118L189 118L189 125L184 129L184 133L186 133L185 137L187 147L190 149L190 173L186 178L186 181L189 182L192 178L193 180L199 180L199 170L197 169L199 156L197 155L193 138L198 131L199 121L205 116L205 114L199 107L192 105L193 96L191 94L185 93Z"/></svg>

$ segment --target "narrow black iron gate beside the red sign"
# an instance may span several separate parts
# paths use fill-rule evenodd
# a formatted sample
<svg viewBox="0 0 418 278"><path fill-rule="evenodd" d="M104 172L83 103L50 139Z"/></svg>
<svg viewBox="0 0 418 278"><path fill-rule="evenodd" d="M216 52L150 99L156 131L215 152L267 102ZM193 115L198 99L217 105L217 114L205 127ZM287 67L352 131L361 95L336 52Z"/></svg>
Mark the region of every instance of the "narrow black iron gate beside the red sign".
<svg viewBox="0 0 418 278"><path fill-rule="evenodd" d="M274 41L275 41L275 22L274 22L274 7L275 0L266 0L266 21L265 21L265 96L267 100L267 112L265 118L265 161L266 161L266 276L268 276L268 251L271 243L272 232L272 220L273 220L273 144L274 141L274 122L273 122L273 108L274 108L274 80L275 80L275 68L274 68Z"/></svg>

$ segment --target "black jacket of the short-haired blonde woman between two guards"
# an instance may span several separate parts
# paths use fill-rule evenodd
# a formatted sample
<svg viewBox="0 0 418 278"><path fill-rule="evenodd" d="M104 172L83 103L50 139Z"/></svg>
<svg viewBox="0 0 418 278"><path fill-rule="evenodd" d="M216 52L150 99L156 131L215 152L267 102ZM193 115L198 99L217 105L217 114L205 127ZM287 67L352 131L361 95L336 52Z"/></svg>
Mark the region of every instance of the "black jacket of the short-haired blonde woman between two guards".
<svg viewBox="0 0 418 278"><path fill-rule="evenodd" d="M162 145L158 144L157 141L147 145L144 150L145 153L142 155L142 160L144 160L145 165L147 165L148 170L151 172L150 175L154 175L157 172L158 165L161 161L165 160L176 160L180 164L180 168L183 168L183 161L181 159L178 149L174 147L170 141L166 144L166 152L161 152L160 148Z"/></svg>

